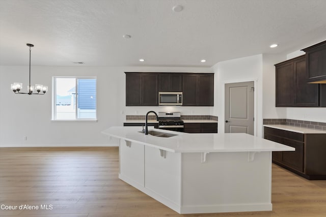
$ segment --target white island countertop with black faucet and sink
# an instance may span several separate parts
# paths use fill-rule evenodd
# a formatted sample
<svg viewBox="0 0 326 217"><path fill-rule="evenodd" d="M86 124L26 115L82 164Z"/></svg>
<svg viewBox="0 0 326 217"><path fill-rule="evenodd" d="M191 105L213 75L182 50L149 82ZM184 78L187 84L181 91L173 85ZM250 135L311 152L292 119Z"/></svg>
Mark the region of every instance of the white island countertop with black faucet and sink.
<svg viewBox="0 0 326 217"><path fill-rule="evenodd" d="M153 130L153 127L149 127ZM155 129L164 133L177 134L177 136L162 138L139 133L142 127L111 127L103 134L108 136L142 143L151 147L171 152L243 152L243 151L291 151L292 147L273 141L258 138L244 133L208 133L188 134L175 131Z"/></svg>

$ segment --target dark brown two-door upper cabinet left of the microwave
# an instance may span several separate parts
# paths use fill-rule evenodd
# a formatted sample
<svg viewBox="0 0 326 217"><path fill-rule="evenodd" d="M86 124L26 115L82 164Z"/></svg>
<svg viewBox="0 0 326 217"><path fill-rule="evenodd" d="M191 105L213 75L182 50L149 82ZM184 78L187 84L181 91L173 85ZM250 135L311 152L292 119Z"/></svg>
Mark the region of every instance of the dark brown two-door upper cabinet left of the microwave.
<svg viewBox="0 0 326 217"><path fill-rule="evenodd" d="M158 74L126 74L126 106L158 106Z"/></svg>

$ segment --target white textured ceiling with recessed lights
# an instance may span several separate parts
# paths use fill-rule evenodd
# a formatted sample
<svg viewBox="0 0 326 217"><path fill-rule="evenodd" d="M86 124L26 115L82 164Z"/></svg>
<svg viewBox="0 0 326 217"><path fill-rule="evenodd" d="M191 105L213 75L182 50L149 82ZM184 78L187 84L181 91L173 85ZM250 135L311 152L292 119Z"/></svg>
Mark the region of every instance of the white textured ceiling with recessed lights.
<svg viewBox="0 0 326 217"><path fill-rule="evenodd" d="M32 65L210 67L326 40L325 11L325 0L0 0L0 65L28 65L32 43Z"/></svg>

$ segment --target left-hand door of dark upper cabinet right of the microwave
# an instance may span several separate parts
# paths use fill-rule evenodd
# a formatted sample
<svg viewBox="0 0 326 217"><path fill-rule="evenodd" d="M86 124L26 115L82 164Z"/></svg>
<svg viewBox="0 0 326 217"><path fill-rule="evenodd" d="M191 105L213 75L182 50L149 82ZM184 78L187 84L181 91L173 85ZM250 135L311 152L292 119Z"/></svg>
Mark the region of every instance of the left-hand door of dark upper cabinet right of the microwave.
<svg viewBox="0 0 326 217"><path fill-rule="evenodd" d="M197 75L184 74L182 82L182 105L196 106L197 105Z"/></svg>

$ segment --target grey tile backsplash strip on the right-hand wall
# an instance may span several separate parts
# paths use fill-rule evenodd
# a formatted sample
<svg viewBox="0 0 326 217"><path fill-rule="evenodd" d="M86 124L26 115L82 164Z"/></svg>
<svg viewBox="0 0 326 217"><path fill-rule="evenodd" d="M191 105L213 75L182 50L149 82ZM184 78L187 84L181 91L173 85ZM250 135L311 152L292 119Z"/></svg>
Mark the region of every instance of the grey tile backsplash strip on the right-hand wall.
<svg viewBox="0 0 326 217"><path fill-rule="evenodd" d="M289 125L326 131L326 123L295 119L263 119L264 125Z"/></svg>

